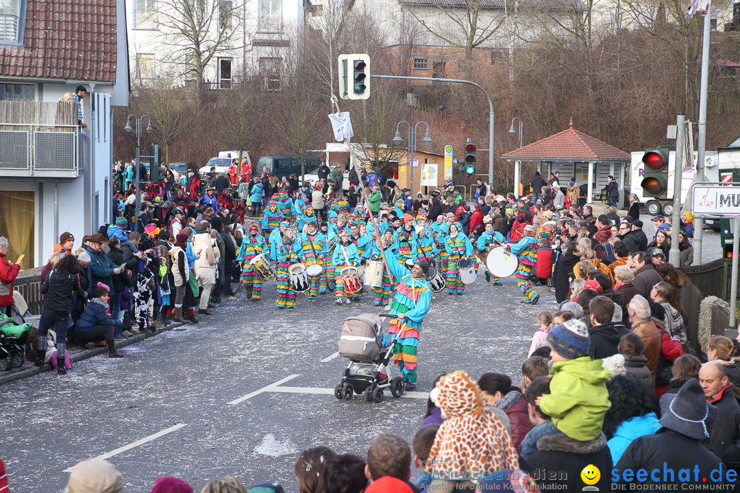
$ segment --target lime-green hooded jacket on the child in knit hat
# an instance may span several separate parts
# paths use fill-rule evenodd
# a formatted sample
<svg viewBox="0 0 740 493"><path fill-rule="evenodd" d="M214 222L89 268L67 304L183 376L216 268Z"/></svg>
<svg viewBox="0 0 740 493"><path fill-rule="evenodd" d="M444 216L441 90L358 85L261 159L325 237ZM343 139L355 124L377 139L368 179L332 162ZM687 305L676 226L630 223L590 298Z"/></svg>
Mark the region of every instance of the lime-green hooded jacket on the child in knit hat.
<svg viewBox="0 0 740 493"><path fill-rule="evenodd" d="M539 409L573 440L595 440L611 407L606 390L611 373L602 367L602 360L589 356L557 361L551 372L550 394L542 395Z"/></svg>

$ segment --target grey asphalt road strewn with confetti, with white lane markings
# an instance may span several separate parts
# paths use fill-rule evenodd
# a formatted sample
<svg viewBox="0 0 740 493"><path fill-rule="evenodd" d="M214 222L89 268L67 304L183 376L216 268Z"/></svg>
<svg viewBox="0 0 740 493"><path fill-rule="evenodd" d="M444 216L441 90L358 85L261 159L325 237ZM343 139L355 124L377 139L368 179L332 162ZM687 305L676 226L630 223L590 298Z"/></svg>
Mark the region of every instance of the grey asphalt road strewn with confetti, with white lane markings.
<svg viewBox="0 0 740 493"><path fill-rule="evenodd" d="M707 234L704 258L719 251L719 235ZM196 492L221 475L296 491L293 466L303 449L364 457L380 433L410 442L440 373L495 371L519 381L537 313L556 309L554 293L536 289L539 304L521 305L514 279L494 288L481 274L465 296L435 294L417 392L386 392L380 404L332 395L346 367L334 356L341 322L377 313L371 299L337 307L330 295L314 304L300 296L297 310L277 310L274 283L261 302L240 293L201 316L205 323L124 348L124 359L98 356L63 377L47 372L0 387L0 458L11 491L61 492L65 469L98 456L121 470L127 493L148 493L162 475Z"/></svg>

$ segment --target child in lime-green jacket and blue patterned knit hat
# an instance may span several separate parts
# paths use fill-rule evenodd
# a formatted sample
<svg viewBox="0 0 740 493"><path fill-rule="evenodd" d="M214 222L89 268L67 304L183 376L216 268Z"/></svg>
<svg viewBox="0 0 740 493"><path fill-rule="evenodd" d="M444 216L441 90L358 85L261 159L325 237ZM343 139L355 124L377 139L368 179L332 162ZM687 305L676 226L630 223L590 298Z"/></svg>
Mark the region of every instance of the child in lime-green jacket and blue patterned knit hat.
<svg viewBox="0 0 740 493"><path fill-rule="evenodd" d="M551 431L578 441L599 437L604 415L611 403L606 381L611 376L601 360L588 356L586 325L568 320L548 333L548 345L554 361L550 395L537 398L536 405L551 416Z"/></svg>

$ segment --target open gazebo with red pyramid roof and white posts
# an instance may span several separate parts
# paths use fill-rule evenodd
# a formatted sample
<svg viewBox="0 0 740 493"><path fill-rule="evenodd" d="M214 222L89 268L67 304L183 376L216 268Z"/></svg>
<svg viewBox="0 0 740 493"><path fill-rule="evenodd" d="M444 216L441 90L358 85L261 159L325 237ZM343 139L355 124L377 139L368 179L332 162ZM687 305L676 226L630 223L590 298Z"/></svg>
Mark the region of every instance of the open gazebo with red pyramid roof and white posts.
<svg viewBox="0 0 740 493"><path fill-rule="evenodd" d="M561 187L571 177L576 177L578 183L588 183L587 203L593 200L593 189L604 188L608 183L607 177L611 175L619 183L619 203L623 203L625 169L630 163L630 154L573 129L572 118L568 129L501 157L514 161L514 194L517 197L518 185L522 182L522 161L534 161L537 171L545 174L545 179L548 174L560 171Z"/></svg>

